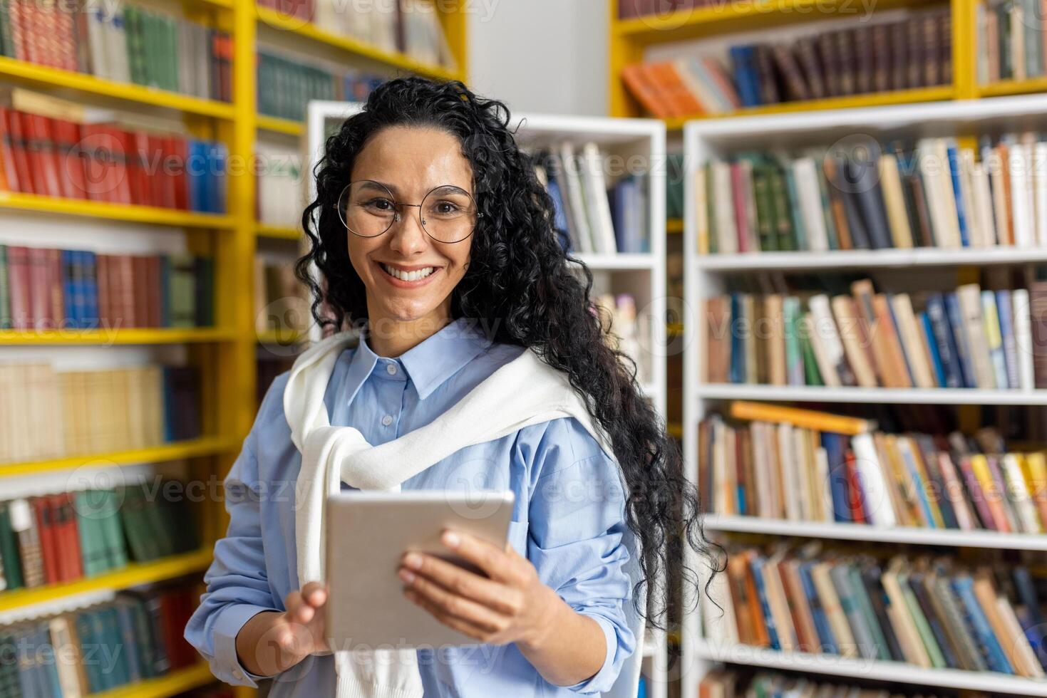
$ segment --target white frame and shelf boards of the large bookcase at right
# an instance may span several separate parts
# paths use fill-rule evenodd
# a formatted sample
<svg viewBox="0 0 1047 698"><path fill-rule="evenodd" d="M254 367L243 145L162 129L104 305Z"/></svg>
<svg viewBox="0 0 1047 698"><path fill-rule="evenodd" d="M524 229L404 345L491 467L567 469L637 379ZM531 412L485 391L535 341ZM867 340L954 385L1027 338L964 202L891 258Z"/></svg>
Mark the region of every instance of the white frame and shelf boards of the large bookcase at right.
<svg viewBox="0 0 1047 698"><path fill-rule="evenodd" d="M688 475L697 481L698 423L713 409L732 400L781 402L927 404L927 405L1047 405L1047 390L900 389L755 384L700 384L700 334L705 298L721 293L733 274L771 274L797 270L836 274L869 270L898 274L910 285L933 283L934 274L950 268L1022 265L1047 262L1047 249L994 247L983 249L887 249L828 252L750 252L706 254L697 250L694 173L710 157L743 150L796 150L829 145L861 133L884 140L908 137L948 137L1043 130L1047 123L1047 95L1000 97L952 103L901 105L809 113L690 121L684 129L685 149L685 295L690 315L684 327L684 457ZM918 274L905 274L918 269ZM895 544L968 546L1022 550L1047 549L1047 536L959 532L945 530L883 528L842 524L714 516L706 519L710 533L796 536L811 539ZM699 561L691 554L691 561ZM974 689L1029 696L1047 696L1047 683L997 673L930 670L898 662L844 659L834 655L774 652L750 647L713 647L701 636L693 588L685 588L691 609L682 628L682 695L696 696L701 677L715 662L816 672L839 677L889 679L928 686Z"/></svg>

